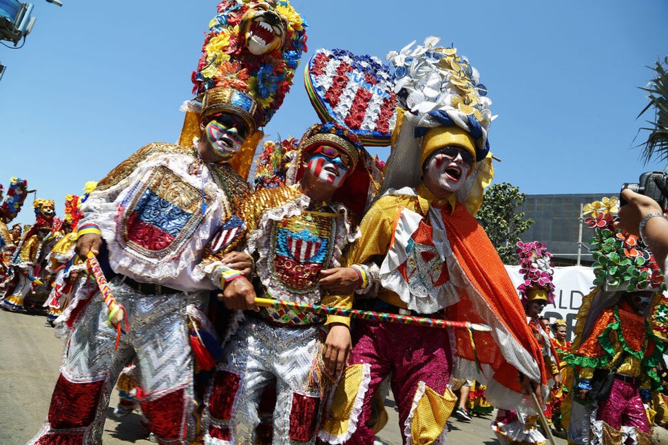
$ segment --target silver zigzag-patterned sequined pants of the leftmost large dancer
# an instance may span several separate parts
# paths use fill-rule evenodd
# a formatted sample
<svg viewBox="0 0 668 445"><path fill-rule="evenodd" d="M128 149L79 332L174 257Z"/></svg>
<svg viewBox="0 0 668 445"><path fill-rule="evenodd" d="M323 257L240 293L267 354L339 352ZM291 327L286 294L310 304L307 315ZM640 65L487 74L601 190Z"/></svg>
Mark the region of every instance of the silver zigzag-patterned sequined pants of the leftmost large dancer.
<svg viewBox="0 0 668 445"><path fill-rule="evenodd" d="M156 417L165 417L160 413L163 406L167 410L178 410L178 413L170 413L178 422L174 426L174 434L170 432L169 435L184 440L166 442L186 443L187 423L194 408L193 358L186 307L193 303L200 309L206 309L207 292L143 295L120 281L117 278L109 283L114 297L125 307L129 322L129 331L121 334L118 349L114 349L116 330L107 325L107 309L99 293L92 297L74 322L72 333L65 345L61 379L64 378L70 382L68 384L74 385L103 382L100 399L97 402L85 400L92 403L96 411L92 424L83 428L85 443L100 442L109 395L123 367L133 359L137 364L137 380L143 391L143 402L151 404L160 400L160 397L171 397L176 391L182 394L178 396L178 403L161 405L156 410ZM55 393L54 391L54 397ZM57 412L54 415L56 417L52 419L50 413L51 422L59 417ZM50 422L47 422L41 435L53 434L58 434L58 431L54 431Z"/></svg>

